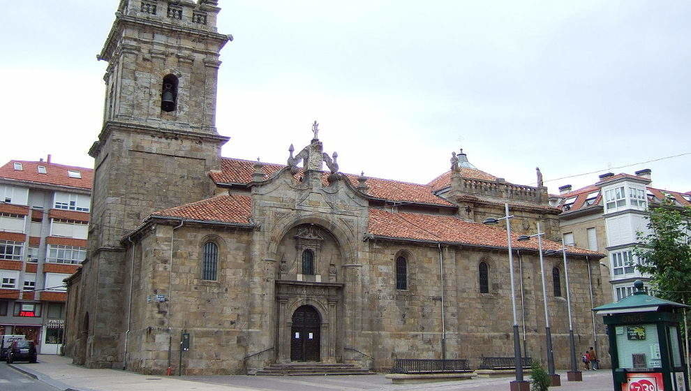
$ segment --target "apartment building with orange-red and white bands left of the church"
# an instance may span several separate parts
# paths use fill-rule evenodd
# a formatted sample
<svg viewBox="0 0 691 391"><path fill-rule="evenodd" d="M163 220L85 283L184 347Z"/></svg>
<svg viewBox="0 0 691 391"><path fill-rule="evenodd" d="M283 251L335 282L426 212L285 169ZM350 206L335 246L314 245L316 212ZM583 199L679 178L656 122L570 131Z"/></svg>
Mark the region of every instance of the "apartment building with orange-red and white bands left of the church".
<svg viewBox="0 0 691 391"><path fill-rule="evenodd" d="M87 254L93 170L46 161L0 167L0 335L24 334L59 353L63 280Z"/></svg>

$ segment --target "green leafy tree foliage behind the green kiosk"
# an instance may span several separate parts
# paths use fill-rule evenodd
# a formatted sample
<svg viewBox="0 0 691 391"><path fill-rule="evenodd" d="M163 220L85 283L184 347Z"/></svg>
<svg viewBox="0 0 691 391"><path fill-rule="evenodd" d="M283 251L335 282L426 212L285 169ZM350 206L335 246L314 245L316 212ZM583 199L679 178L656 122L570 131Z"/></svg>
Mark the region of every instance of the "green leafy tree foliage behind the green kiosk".
<svg viewBox="0 0 691 391"><path fill-rule="evenodd" d="M671 202L651 207L648 230L639 233L634 250L641 260L638 270L651 274L655 296L691 303L691 207Z"/></svg>

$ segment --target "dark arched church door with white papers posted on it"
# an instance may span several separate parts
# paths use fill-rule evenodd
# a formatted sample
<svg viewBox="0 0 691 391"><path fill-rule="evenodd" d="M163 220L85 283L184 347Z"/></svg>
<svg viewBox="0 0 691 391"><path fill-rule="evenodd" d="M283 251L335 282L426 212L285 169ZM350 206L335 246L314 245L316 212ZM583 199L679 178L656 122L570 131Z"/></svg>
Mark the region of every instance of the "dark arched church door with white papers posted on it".
<svg viewBox="0 0 691 391"><path fill-rule="evenodd" d="M298 307L292 314L290 329L290 360L319 361L321 318L309 305Z"/></svg>

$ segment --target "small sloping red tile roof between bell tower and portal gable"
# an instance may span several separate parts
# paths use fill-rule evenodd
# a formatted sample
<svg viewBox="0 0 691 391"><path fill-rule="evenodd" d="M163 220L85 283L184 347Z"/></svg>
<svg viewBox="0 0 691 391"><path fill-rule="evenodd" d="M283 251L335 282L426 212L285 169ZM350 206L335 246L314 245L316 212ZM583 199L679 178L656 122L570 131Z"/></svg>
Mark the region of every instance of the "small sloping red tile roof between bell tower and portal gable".
<svg viewBox="0 0 691 391"><path fill-rule="evenodd" d="M182 219L219 221L222 223L251 224L252 198L248 195L218 195L214 198L172 207L151 216L179 217Z"/></svg>

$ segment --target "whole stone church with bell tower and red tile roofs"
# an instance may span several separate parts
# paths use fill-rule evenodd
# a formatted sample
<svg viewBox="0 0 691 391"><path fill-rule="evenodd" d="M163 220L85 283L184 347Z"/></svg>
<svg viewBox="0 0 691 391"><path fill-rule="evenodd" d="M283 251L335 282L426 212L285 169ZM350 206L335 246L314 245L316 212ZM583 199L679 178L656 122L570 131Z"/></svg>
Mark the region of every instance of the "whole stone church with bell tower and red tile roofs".
<svg viewBox="0 0 691 391"><path fill-rule="evenodd" d="M66 354L144 374L512 356L506 231L482 224L507 202L521 346L544 360L537 240L515 241L537 222L559 237L539 172L537 187L511 184L461 151L429 184L345 174L309 122L285 164L221 157L218 56L232 37L216 31L219 10L216 0L119 2L98 56L105 113L89 150L88 256L67 280ZM604 348L590 311L606 300L602 254L567 256L577 349ZM546 256L545 270L564 368L561 256Z"/></svg>

